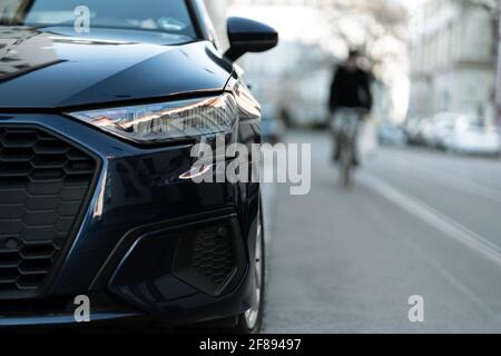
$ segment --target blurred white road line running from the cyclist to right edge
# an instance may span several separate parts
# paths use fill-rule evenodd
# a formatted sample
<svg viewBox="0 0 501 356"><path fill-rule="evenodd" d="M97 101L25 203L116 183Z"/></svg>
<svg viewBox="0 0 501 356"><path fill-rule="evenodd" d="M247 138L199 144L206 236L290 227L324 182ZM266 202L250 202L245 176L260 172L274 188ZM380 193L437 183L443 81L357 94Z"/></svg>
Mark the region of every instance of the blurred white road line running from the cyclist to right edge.
<svg viewBox="0 0 501 356"><path fill-rule="evenodd" d="M468 229L418 198L396 190L372 174L361 174L358 179L376 194L501 266L501 248L484 237Z"/></svg>

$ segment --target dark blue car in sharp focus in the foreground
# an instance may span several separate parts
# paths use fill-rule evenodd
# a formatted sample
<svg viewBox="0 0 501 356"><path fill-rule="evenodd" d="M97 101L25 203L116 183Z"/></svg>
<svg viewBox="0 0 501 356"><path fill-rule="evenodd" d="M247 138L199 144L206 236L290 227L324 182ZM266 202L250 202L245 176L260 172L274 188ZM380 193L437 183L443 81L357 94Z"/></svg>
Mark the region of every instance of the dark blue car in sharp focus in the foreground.
<svg viewBox="0 0 501 356"><path fill-rule="evenodd" d="M259 184L186 179L196 144L259 142L233 62L277 33L227 28L223 53L202 1L0 0L0 332L86 306L89 325L259 329Z"/></svg>

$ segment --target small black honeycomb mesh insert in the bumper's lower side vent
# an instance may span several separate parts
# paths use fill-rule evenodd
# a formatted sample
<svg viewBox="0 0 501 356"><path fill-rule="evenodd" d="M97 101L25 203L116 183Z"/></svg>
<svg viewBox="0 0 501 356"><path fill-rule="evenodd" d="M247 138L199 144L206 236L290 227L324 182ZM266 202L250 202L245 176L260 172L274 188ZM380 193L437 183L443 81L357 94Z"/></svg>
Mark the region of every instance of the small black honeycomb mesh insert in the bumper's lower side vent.
<svg viewBox="0 0 501 356"><path fill-rule="evenodd" d="M233 240L225 227L200 230L195 238L191 266L216 284L224 283L235 268Z"/></svg>

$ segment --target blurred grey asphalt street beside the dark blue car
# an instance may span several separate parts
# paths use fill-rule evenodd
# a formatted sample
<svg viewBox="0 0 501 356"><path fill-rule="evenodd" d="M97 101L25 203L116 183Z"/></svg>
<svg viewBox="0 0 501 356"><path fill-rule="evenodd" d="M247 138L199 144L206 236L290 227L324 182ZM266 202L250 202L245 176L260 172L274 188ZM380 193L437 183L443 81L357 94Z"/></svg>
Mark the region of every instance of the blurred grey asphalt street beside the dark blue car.
<svg viewBox="0 0 501 356"><path fill-rule="evenodd" d="M327 135L287 140L312 144L312 190L265 187L265 332L501 332L500 160L379 148L346 190Z"/></svg>

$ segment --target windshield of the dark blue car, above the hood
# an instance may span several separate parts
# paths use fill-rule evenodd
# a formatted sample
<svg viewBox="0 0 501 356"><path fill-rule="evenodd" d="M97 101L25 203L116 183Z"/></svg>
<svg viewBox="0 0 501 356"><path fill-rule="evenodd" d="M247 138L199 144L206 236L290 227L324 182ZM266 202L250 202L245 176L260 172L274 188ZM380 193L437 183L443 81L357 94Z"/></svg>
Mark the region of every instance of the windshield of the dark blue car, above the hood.
<svg viewBox="0 0 501 356"><path fill-rule="evenodd" d="M0 0L0 24L76 26L169 32L196 38L185 0Z"/></svg>

